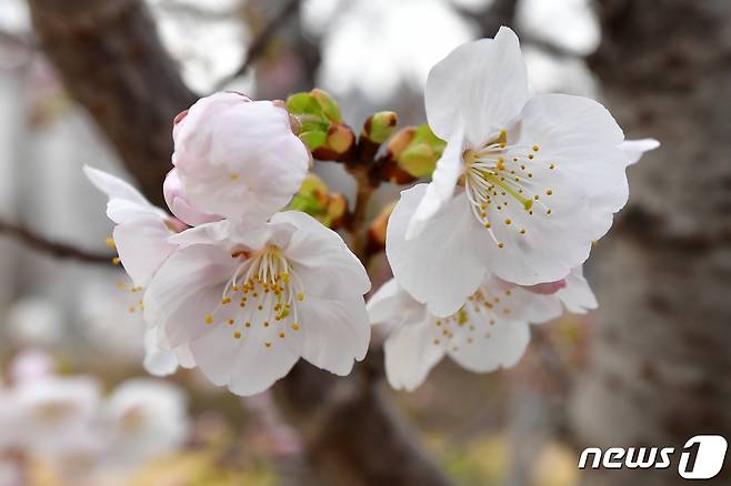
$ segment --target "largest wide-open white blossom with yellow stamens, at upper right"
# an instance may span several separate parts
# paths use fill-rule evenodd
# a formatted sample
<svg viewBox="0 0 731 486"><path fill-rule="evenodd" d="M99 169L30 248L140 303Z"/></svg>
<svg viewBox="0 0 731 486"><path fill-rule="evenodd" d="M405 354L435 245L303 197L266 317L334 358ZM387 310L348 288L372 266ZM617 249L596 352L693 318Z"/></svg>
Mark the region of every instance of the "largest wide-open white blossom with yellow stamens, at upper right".
<svg viewBox="0 0 731 486"><path fill-rule="evenodd" d="M432 182L402 192L387 254L399 282L451 315L488 274L563 279L628 198L623 134L598 102L531 97L515 34L457 48L429 73L429 124L448 141Z"/></svg>

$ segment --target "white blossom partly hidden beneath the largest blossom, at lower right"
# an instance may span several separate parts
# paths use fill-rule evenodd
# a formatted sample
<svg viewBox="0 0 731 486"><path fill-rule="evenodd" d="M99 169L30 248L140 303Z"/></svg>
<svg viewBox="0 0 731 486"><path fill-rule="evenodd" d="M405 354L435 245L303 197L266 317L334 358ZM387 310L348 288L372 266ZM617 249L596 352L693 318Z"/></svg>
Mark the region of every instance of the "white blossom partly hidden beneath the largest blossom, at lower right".
<svg viewBox="0 0 731 486"><path fill-rule="evenodd" d="M389 383L412 391L444 355L475 373L514 365L530 341L529 323L558 317L562 304L574 313L597 306L580 267L552 295L489 277L448 317L433 315L391 280L371 297L368 313L372 324L392 325L384 345Z"/></svg>

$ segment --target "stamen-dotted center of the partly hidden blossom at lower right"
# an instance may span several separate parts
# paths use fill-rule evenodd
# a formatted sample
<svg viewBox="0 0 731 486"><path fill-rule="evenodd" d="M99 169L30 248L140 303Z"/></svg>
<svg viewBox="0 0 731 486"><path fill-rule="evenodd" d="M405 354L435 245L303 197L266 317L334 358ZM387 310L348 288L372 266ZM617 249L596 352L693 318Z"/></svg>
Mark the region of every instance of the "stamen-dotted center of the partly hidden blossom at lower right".
<svg viewBox="0 0 731 486"><path fill-rule="evenodd" d="M489 340L492 326L512 314L510 288L489 294L478 290L467 303L449 317L435 320L432 327L432 343L457 352L460 345L473 344L478 337Z"/></svg>

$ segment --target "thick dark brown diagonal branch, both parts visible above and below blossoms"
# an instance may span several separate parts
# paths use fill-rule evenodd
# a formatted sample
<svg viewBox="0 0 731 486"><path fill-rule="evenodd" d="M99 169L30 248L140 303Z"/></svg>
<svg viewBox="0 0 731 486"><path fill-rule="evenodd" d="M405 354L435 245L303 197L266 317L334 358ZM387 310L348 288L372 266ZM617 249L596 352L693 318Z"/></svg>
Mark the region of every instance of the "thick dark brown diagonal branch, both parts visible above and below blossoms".
<svg viewBox="0 0 731 486"><path fill-rule="evenodd" d="M163 205L171 121L196 101L162 48L140 0L29 0L33 27L69 92L93 115L138 180ZM332 485L444 486L388 399L374 358L352 376L300 363L276 387L307 438L319 476ZM382 356L379 356L382 362Z"/></svg>

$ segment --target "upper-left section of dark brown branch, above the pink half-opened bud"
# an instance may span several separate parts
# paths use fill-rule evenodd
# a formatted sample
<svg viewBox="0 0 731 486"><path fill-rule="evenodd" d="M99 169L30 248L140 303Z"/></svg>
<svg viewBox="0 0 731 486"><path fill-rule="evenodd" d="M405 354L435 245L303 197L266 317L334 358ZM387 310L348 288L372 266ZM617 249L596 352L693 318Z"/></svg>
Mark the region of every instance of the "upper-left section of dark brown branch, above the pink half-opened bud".
<svg viewBox="0 0 731 486"><path fill-rule="evenodd" d="M144 194L162 205L171 123L196 101L137 0L29 0L39 42L67 90L112 142Z"/></svg>

